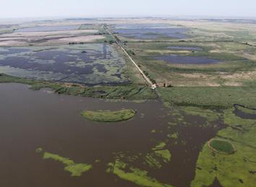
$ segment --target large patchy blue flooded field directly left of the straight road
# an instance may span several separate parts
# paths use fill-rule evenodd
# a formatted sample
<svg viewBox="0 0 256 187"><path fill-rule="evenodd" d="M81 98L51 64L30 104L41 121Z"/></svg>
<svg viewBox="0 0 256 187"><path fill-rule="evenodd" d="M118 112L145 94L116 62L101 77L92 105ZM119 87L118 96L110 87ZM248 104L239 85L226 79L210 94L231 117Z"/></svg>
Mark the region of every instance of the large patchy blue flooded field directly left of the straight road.
<svg viewBox="0 0 256 187"><path fill-rule="evenodd" d="M5 47L0 72L16 77L81 84L127 82L125 61L107 44Z"/></svg>

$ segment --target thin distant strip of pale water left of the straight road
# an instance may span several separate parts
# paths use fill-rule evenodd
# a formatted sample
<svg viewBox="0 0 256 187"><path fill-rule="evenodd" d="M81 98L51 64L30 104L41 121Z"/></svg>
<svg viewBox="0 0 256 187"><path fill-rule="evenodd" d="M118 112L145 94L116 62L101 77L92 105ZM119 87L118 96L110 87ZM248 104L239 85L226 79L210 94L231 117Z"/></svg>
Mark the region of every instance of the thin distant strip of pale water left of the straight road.
<svg viewBox="0 0 256 187"><path fill-rule="evenodd" d="M61 30L77 30L80 25L38 26L17 29L14 32L50 32Z"/></svg>

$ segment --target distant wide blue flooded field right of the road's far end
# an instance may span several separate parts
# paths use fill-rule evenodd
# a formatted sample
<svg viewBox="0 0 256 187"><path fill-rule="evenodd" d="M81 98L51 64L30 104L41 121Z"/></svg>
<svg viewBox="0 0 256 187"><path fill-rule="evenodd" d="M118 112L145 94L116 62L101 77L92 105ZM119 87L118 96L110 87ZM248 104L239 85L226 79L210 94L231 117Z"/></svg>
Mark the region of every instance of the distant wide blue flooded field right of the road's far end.
<svg viewBox="0 0 256 187"><path fill-rule="evenodd" d="M187 29L163 24L116 25L114 32L135 39L187 38Z"/></svg>

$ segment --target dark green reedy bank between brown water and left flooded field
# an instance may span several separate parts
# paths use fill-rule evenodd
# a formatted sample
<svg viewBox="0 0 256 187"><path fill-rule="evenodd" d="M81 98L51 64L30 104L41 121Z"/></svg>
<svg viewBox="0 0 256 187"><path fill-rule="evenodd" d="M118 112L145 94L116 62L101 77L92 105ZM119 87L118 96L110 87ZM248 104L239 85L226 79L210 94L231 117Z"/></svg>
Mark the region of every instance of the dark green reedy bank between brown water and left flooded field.
<svg viewBox="0 0 256 187"><path fill-rule="evenodd" d="M0 83L21 83L28 84L33 90L40 90L43 87L48 87L54 92L65 95L80 95L82 97L97 97L106 99L121 99L121 100L149 100L155 99L158 96L145 86L97 86L85 87L80 84L63 84L58 82L36 81L33 79L25 79L20 77L12 77L7 74L1 74Z"/></svg>

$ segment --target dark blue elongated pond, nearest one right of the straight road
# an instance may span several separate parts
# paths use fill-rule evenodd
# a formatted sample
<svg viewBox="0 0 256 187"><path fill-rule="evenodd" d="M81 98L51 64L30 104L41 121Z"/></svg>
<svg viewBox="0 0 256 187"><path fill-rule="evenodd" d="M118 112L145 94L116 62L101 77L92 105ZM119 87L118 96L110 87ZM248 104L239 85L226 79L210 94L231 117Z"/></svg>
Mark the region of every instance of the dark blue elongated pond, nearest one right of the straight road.
<svg viewBox="0 0 256 187"><path fill-rule="evenodd" d="M214 58L208 58L205 56L155 56L156 60L166 61L171 64L216 64L220 61Z"/></svg>

